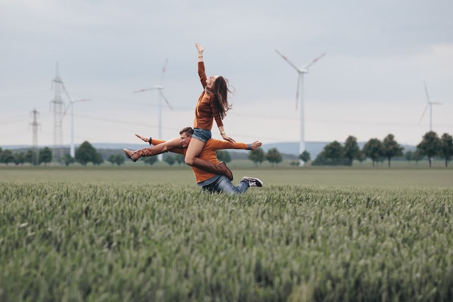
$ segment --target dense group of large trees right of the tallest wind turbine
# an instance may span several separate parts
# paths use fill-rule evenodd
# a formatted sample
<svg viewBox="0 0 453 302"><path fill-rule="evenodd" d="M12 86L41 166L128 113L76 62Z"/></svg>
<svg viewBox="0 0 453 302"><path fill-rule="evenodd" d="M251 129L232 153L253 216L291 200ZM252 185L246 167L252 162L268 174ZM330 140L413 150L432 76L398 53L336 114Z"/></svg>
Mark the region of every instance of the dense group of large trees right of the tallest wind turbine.
<svg viewBox="0 0 453 302"><path fill-rule="evenodd" d="M372 166L376 162L388 161L391 166L391 160L396 157L405 157L409 162L418 162L423 158L429 161L429 167L432 165L432 159L437 156L445 160L445 167L453 157L453 138L450 134L444 133L440 138L434 131L429 131L423 135L423 138L415 152L408 150L403 153L404 147L400 145L393 134L387 135L382 141L378 138L368 140L362 149L357 144L354 136L348 136L344 145L338 141L327 144L323 151L313 161L313 166L351 166L354 160L363 162L366 159L372 161ZM301 157L302 155L300 155Z"/></svg>

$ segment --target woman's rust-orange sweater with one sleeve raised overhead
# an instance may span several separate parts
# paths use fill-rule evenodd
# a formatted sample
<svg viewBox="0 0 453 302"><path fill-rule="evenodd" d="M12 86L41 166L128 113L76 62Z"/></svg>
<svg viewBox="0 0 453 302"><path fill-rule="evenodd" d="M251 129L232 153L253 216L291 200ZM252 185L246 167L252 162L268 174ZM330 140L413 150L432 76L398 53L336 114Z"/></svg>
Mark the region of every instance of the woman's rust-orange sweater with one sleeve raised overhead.
<svg viewBox="0 0 453 302"><path fill-rule="evenodd" d="M213 94L206 93L206 73L204 72L204 63L198 62L198 75L200 76L203 92L198 98L197 106L195 107L195 119L193 127L211 130L212 120L215 119L217 127L223 126L222 119L217 108L217 101Z"/></svg>

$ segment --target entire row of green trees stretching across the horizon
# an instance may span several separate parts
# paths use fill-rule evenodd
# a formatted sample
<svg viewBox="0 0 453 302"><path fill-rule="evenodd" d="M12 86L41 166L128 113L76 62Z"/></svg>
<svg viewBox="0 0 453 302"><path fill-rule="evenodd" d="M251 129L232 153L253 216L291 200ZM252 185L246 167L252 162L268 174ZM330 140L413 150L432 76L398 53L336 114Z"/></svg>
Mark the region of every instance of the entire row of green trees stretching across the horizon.
<svg viewBox="0 0 453 302"><path fill-rule="evenodd" d="M382 141L378 138L371 138L362 147L359 148L356 137L350 135L346 138L346 141L341 144L338 141L333 141L324 146L322 152L312 162L313 166L351 166L354 160L363 162L366 159L372 161L374 167L376 162L388 161L389 167L391 166L391 160L397 157L405 157L409 163L411 161L419 162L420 160L427 158L429 167L432 165L432 159L434 157L442 158L445 161L445 167L448 167L448 163L453 158L453 138L450 134L444 133L441 137L433 131L429 131L423 135L423 138L415 152L408 150L403 153L404 147L400 145L393 134L387 135ZM217 158L219 161L225 163L231 162L231 155L226 150L217 150ZM258 148L248 154L248 159L251 160L256 166L261 165L264 161L268 161L272 167L282 161L282 155L277 148L271 148L267 152L264 152L262 148ZM298 156L298 159L309 162L311 160L310 153L304 151ZM44 147L39 150L39 153L34 159L33 150L20 152L14 154L11 150L2 150L0 148L0 163L15 165L21 165L24 163L33 164L36 162L37 165L44 164L44 166L50 163L52 160L52 151L49 147ZM147 165L153 165L157 162L157 157L146 157L143 159ZM107 160L112 165L122 165L125 161L125 156L121 154L110 155ZM184 156L180 154L170 155L164 154L164 161L170 166L174 164L181 165L184 163ZM81 165L87 165L92 163L93 165L101 165L104 163L104 158L96 150L95 147L88 141L84 141L76 150L75 157L72 158L69 154L65 154L60 162L66 166L77 162ZM292 165L298 165L297 162L292 162Z"/></svg>

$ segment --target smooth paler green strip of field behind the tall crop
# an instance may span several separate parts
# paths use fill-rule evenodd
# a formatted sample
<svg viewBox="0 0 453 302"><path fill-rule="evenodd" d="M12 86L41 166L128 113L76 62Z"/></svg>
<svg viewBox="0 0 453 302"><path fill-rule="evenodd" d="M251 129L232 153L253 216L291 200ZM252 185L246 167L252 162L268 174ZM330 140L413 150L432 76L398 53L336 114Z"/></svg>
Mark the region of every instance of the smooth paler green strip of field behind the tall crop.
<svg viewBox="0 0 453 302"><path fill-rule="evenodd" d="M266 185L391 186L453 188L452 168L255 168L248 161L229 164L235 184L243 176L257 177ZM197 189L192 170L186 167L125 165L121 167L0 167L0 182L175 183Z"/></svg>

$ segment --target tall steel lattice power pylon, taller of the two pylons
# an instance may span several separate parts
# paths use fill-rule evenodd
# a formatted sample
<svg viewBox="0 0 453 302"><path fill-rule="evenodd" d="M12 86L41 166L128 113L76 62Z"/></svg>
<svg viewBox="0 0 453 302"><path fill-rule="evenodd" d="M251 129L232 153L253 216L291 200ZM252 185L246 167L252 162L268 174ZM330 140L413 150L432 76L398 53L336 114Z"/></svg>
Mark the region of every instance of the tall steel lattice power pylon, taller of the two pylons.
<svg viewBox="0 0 453 302"><path fill-rule="evenodd" d="M52 86L55 91L53 100L50 104L53 104L53 149L52 158L57 161L63 157L63 107L64 102L61 98L61 89L64 89L63 81L60 78L60 71L58 69L58 62L55 69L55 78L52 80Z"/></svg>

